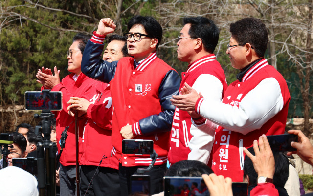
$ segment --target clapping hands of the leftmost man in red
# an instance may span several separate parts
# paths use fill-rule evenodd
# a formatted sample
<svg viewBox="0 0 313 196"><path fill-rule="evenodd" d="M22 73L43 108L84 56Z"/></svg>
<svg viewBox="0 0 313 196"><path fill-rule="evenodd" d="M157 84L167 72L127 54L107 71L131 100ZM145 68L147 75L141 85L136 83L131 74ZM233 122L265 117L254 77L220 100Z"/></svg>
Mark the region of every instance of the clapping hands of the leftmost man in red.
<svg viewBox="0 0 313 196"><path fill-rule="evenodd" d="M50 75L51 74L51 75ZM38 70L36 77L38 78L36 81L42 84L45 89L52 89L55 85L60 83L60 70L57 67L54 67L54 76L52 75L52 71L49 69Z"/></svg>

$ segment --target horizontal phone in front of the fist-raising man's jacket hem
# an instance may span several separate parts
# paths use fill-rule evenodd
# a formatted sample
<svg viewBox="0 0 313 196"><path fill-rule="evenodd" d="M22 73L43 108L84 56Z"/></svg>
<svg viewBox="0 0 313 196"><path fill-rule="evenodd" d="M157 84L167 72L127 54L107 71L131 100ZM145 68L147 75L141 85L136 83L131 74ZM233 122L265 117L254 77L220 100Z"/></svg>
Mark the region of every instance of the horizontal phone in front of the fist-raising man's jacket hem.
<svg viewBox="0 0 313 196"><path fill-rule="evenodd" d="M125 154L151 155L153 153L153 140L123 139L122 152Z"/></svg>

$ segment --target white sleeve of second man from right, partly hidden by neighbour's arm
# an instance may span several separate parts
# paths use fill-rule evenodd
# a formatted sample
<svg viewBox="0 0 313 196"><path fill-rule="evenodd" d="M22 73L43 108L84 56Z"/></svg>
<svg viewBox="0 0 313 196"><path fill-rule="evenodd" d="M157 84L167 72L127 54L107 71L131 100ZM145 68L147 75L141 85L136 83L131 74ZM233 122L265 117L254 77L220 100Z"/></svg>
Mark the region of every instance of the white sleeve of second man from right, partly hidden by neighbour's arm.
<svg viewBox="0 0 313 196"><path fill-rule="evenodd" d="M221 81L213 75L201 74L193 84L198 93L201 92L204 98L210 98L221 101L223 93L223 85ZM193 120L192 120L193 121ZM201 126L201 129L194 126L190 127L190 134L193 136L189 141L191 152L188 154L188 160L198 160L205 164L208 163L210 152L212 150L214 133L216 125L206 120L210 126Z"/></svg>

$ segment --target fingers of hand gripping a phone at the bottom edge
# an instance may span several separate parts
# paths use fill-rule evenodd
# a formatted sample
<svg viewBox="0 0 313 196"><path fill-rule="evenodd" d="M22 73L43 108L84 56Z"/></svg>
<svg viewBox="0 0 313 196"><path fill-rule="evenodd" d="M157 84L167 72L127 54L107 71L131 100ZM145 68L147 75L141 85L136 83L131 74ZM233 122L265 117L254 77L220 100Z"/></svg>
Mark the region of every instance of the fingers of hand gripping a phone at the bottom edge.
<svg viewBox="0 0 313 196"><path fill-rule="evenodd" d="M209 189L210 196L232 196L233 190L231 188L231 179L224 176L216 176L212 173L210 175L202 174L202 178Z"/></svg>

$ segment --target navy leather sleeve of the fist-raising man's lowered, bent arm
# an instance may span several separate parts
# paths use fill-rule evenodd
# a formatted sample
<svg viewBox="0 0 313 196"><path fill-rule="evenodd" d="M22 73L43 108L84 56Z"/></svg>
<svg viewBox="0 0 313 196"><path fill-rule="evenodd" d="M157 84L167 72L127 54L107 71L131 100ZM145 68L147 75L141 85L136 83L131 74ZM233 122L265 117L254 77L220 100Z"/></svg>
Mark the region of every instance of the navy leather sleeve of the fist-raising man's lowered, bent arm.
<svg viewBox="0 0 313 196"><path fill-rule="evenodd" d="M158 90L162 112L139 120L142 134L171 131L175 106L171 104L170 99L173 95L179 94L179 85L179 74L175 70L168 71Z"/></svg>

